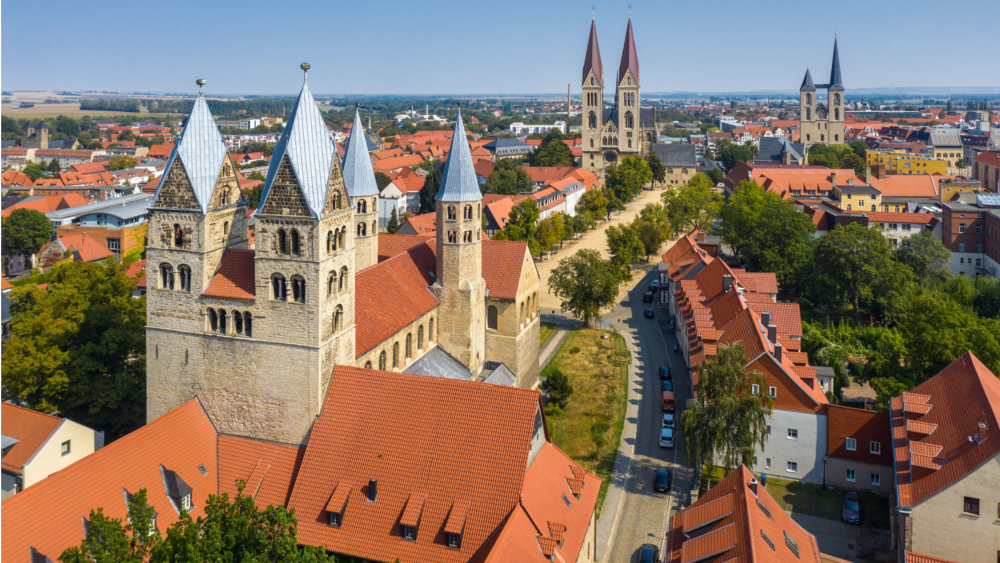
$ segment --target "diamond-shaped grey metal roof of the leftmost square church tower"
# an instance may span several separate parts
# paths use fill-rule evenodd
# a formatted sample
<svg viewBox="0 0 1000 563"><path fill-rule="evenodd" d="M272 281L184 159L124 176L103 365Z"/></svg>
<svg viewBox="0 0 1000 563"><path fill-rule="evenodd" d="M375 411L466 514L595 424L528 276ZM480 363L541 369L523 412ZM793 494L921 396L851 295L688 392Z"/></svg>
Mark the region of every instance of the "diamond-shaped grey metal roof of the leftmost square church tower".
<svg viewBox="0 0 1000 563"><path fill-rule="evenodd" d="M163 175L167 177L174 162L180 159L198 205L201 206L202 213L206 213L226 154L226 143L222 140L222 134L219 133L215 120L212 119L212 112L208 109L204 94L199 91L191 108L191 115L188 116L181 132L181 139L171 152L167 166L163 169Z"/></svg>

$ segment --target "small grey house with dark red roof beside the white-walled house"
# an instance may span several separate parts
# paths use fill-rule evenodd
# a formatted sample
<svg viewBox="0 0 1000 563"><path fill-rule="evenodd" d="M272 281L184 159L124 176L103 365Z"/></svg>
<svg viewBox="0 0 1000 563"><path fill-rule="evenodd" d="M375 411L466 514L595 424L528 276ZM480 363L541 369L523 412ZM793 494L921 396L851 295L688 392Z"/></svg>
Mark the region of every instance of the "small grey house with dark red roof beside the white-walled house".
<svg viewBox="0 0 1000 563"><path fill-rule="evenodd" d="M889 413L829 405L826 484L888 496L893 488Z"/></svg>

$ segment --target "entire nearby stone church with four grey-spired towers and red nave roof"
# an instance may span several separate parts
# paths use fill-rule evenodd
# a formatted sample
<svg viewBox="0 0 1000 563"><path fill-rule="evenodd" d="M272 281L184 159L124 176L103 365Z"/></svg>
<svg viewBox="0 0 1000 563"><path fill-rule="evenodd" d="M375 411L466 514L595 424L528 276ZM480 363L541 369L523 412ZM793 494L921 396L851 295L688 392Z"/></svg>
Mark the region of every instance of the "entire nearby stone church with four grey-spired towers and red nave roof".
<svg viewBox="0 0 1000 563"><path fill-rule="evenodd" d="M335 366L537 382L538 272L525 243L483 235L461 112L433 237L378 233L357 112L352 131L341 159L304 80L251 248L252 210L199 92L149 207L148 421L197 396L220 432L300 444Z"/></svg>

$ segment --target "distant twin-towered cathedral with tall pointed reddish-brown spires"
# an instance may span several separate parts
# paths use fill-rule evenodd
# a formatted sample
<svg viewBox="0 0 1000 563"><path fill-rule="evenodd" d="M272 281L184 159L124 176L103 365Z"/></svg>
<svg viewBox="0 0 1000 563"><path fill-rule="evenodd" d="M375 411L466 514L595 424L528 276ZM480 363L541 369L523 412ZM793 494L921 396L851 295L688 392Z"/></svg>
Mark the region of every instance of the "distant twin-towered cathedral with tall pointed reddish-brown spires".
<svg viewBox="0 0 1000 563"><path fill-rule="evenodd" d="M639 56L632 37L632 19L615 75L615 97L604 104L604 67L597 44L597 26L590 22L590 39L583 62L583 167L601 178L611 164L626 156L645 156L656 143L656 115L639 99Z"/></svg>

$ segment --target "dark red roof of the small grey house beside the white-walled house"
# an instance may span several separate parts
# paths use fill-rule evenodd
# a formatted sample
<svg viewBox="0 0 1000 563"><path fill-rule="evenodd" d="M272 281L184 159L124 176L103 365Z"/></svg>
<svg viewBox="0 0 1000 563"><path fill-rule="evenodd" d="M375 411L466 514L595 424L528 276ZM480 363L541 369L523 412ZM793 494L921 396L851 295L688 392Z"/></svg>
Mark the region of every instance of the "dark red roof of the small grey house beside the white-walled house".
<svg viewBox="0 0 1000 563"><path fill-rule="evenodd" d="M826 454L876 465L892 465L892 428L889 413L830 405L827 408ZM854 438L856 447L847 449L847 438ZM871 453L870 442L878 442L879 454Z"/></svg>

